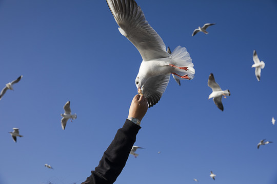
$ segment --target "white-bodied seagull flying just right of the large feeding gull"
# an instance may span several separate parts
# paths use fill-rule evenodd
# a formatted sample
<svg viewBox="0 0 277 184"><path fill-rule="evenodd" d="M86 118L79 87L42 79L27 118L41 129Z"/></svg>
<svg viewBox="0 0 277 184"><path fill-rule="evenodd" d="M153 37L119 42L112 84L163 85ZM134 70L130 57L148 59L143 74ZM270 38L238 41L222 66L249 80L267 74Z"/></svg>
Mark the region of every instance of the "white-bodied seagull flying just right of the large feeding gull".
<svg viewBox="0 0 277 184"><path fill-rule="evenodd" d="M214 80L213 74L211 73L208 80L208 86L212 89L212 93L209 95L209 99L213 98L213 102L220 110L223 111L223 104L221 102L222 96L226 98L226 96L230 96L229 89L222 90Z"/></svg>

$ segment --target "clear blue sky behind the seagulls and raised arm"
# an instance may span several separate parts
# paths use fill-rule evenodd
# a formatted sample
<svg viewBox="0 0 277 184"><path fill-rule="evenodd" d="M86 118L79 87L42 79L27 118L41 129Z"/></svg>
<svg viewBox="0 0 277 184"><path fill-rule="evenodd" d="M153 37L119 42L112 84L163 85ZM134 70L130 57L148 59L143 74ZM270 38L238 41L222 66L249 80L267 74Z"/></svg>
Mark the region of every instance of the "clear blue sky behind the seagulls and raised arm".
<svg viewBox="0 0 277 184"><path fill-rule="evenodd" d="M136 2L166 46L187 48L195 78L171 78L137 135L146 149L115 183L277 183L277 1ZM216 23L208 35L191 36L207 22ZM142 61L117 27L105 0L0 1L0 88L23 75L0 101L1 184L81 183L98 165L128 116ZM231 92L223 112L208 100L210 73ZM77 119L63 131L68 100ZM17 143L13 127L24 135ZM273 144L258 150L262 139Z"/></svg>

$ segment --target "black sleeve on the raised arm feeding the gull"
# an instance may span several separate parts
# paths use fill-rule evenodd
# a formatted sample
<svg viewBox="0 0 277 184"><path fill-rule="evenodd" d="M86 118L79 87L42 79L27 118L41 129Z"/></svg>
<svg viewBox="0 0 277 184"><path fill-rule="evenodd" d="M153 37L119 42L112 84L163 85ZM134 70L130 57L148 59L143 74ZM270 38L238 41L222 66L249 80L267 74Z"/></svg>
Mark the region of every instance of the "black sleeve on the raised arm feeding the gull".
<svg viewBox="0 0 277 184"><path fill-rule="evenodd" d="M113 183L123 170L140 129L140 126L126 120L123 127L117 130L95 171L91 171L91 175L81 184Z"/></svg>

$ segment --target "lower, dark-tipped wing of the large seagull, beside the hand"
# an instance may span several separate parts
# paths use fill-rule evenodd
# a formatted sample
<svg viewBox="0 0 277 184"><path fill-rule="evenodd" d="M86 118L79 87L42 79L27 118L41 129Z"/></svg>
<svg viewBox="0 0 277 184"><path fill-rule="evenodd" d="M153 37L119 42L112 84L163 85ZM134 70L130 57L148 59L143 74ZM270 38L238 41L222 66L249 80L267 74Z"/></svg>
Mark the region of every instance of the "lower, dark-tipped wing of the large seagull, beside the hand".
<svg viewBox="0 0 277 184"><path fill-rule="evenodd" d="M143 85L143 90L147 91L143 95L147 98L148 107L153 107L162 98L168 85L170 74L151 77Z"/></svg>

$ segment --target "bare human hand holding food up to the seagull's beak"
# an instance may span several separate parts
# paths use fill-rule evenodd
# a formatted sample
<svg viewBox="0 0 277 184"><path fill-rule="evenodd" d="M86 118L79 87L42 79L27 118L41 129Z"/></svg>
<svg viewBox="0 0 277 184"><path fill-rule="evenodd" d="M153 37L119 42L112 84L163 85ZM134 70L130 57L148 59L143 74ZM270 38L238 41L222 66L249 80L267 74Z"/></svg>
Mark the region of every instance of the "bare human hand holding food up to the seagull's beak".
<svg viewBox="0 0 277 184"><path fill-rule="evenodd" d="M134 96L130 105L128 118L136 118L142 121L144 115L147 112L147 109L147 99L143 96L136 95Z"/></svg>

